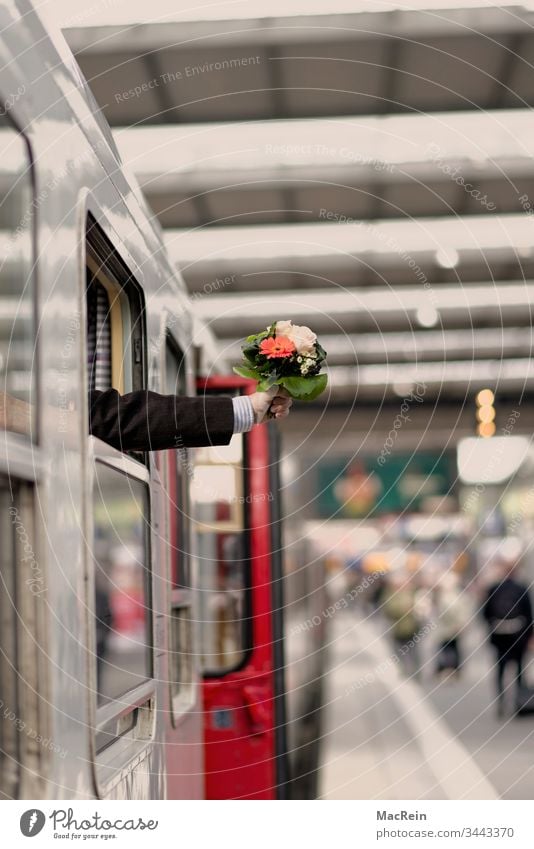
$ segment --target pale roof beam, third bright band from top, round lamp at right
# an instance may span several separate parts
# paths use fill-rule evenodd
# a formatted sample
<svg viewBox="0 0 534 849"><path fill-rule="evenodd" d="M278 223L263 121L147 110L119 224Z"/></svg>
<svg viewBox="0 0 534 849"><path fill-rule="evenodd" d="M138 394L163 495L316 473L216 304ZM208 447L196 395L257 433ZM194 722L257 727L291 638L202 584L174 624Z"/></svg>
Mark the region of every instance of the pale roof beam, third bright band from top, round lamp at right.
<svg viewBox="0 0 534 849"><path fill-rule="evenodd" d="M328 213L328 214L327 214ZM211 276L298 270L319 273L354 264L399 267L428 282L423 268L463 260L515 261L533 258L534 216L473 215L414 220L167 230L165 243L181 270ZM339 216L338 216L339 218ZM328 219L328 220L326 220Z"/></svg>

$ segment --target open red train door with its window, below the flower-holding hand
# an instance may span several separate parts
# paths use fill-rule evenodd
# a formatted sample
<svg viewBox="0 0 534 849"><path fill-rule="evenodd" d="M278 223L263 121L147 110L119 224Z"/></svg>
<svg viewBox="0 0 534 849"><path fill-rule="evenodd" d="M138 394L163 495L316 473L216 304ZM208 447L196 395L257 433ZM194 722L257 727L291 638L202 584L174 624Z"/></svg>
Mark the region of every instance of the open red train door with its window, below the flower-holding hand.
<svg viewBox="0 0 534 849"><path fill-rule="evenodd" d="M214 377L199 388L255 384ZM282 798L287 787L276 468L268 426L196 457L208 799Z"/></svg>

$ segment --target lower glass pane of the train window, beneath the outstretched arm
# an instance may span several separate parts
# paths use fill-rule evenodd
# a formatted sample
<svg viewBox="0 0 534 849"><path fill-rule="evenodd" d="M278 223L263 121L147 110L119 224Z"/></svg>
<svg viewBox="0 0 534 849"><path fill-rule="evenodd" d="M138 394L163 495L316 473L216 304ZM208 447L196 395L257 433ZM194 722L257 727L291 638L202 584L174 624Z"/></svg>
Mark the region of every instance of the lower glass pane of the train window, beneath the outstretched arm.
<svg viewBox="0 0 534 849"><path fill-rule="evenodd" d="M146 484L96 462L93 515L97 702L103 705L152 674Z"/></svg>

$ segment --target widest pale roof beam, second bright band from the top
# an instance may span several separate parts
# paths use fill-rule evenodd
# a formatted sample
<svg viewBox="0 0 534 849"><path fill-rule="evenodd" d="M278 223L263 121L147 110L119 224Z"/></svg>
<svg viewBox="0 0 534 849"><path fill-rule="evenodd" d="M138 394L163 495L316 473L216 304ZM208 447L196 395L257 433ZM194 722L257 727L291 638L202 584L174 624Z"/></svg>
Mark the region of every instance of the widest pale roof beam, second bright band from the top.
<svg viewBox="0 0 534 849"><path fill-rule="evenodd" d="M517 109L144 126L116 129L114 137L150 193L247 190L263 181L512 181L534 174L531 125L531 111Z"/></svg>

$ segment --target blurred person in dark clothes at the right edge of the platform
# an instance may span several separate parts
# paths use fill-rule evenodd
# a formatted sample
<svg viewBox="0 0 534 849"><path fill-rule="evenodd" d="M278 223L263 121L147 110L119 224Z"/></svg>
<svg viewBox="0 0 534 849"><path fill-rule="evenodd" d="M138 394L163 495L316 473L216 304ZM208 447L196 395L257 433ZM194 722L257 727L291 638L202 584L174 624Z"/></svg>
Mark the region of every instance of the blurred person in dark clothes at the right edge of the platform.
<svg viewBox="0 0 534 849"><path fill-rule="evenodd" d="M482 608L488 624L490 643L496 654L497 716L504 715L506 667L515 667L515 691L523 696L523 660L532 636L533 619L526 584L516 577L517 563L504 564L505 574L490 586Z"/></svg>

